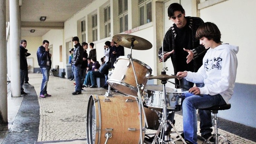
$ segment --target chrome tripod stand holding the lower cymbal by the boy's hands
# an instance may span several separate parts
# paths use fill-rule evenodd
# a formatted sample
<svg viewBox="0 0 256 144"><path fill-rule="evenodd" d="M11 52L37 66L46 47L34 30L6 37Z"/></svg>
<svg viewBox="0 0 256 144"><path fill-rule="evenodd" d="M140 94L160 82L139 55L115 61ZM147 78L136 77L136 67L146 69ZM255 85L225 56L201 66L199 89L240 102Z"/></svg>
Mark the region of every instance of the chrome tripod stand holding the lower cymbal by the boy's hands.
<svg viewBox="0 0 256 144"><path fill-rule="evenodd" d="M163 71L161 72L162 75L165 75L165 68L163 69ZM155 144L158 138L158 135L161 131L161 134L159 136L159 143L161 144L168 144L169 142L171 142L172 144L175 144L174 142L177 140L182 140L184 144L186 144L184 138L182 138L182 136L180 135L179 131L177 131L177 129L174 127L173 123L167 119L167 104L168 99L166 97L166 89L165 89L165 84L167 83L166 79L162 79L161 83L163 84L163 95L164 95L164 99L163 99L163 117L160 120L160 125L157 129L157 132L155 134L155 138L152 142L152 144ZM168 123L172 126L172 128L174 129L174 131L179 135L179 138L176 138L174 140L172 140L170 138L169 132L168 132Z"/></svg>

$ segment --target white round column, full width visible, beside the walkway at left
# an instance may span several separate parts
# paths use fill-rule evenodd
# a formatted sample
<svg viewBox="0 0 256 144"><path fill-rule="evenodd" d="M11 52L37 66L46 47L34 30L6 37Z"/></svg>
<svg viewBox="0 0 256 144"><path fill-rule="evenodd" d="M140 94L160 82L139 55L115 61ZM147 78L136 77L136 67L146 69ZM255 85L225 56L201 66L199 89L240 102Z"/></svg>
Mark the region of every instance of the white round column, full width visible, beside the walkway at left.
<svg viewBox="0 0 256 144"><path fill-rule="evenodd" d="M20 97L19 0L10 0L11 94Z"/></svg>

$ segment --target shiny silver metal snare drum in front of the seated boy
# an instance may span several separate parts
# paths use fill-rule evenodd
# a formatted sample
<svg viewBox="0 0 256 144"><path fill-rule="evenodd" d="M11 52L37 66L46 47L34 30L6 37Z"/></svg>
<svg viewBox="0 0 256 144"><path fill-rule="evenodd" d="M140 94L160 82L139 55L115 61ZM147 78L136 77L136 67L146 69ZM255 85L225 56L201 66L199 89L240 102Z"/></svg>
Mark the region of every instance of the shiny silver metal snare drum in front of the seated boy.
<svg viewBox="0 0 256 144"><path fill-rule="evenodd" d="M174 92L177 91L176 88L165 87L166 88L166 97L168 100L167 109L172 109L174 111L180 111L182 101L185 98L184 93ZM148 85L144 90L144 102L146 106L163 108L164 95L163 95L163 86L162 85Z"/></svg>

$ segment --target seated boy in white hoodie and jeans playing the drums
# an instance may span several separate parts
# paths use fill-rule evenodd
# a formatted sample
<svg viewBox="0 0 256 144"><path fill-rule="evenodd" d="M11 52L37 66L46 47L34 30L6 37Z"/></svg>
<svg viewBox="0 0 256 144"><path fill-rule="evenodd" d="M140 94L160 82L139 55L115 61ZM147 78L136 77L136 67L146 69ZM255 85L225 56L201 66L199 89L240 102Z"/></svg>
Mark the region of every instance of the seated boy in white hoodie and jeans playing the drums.
<svg viewBox="0 0 256 144"><path fill-rule="evenodd" d="M209 50L203 58L198 72L178 72L193 83L204 83L204 87L192 87L185 92L183 109L183 130L188 144L197 144L196 109L225 105L233 94L237 72L238 46L221 44L220 31L211 22L205 22L196 31L200 44Z"/></svg>

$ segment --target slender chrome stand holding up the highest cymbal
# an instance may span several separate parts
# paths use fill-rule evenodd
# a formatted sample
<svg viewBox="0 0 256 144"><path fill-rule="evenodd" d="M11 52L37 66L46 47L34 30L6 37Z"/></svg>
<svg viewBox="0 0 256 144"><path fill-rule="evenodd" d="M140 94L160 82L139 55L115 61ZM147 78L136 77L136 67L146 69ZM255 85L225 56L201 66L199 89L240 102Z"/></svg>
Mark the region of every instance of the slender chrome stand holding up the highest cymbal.
<svg viewBox="0 0 256 144"><path fill-rule="evenodd" d="M132 51L132 48L134 47L134 41L135 39L131 39L131 51ZM142 111L141 109L143 109L143 114L144 114L144 119L145 119L145 123L146 123L146 126L148 127L148 124L147 124L147 119L146 119L146 115L145 115L145 111L144 111L144 108L143 107L143 103L142 103L142 100L141 100L141 94L140 94L140 88L141 88L141 85L138 84L138 79L137 79L137 76L136 76L136 73L135 73L135 68L134 68L134 64L133 64L133 59L132 59L132 56L131 56L131 51L130 51L130 54L127 56L130 61L131 61L131 65L132 65L132 70L133 70L133 73L134 73L134 76L135 76L135 81L136 81L136 86L137 86L137 89L138 89L138 100L139 100L139 119L140 119L140 144L143 144L144 141L143 141L143 130L145 132L145 128L142 127Z"/></svg>

